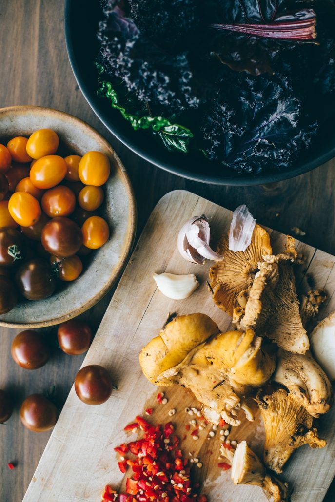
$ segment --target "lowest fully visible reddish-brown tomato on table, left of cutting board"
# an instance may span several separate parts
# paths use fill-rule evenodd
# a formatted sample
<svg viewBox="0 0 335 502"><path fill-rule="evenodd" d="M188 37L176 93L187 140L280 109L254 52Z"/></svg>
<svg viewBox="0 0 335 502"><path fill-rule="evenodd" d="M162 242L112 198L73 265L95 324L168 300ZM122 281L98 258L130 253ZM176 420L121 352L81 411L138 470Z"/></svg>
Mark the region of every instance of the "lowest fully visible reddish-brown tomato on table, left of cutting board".
<svg viewBox="0 0 335 502"><path fill-rule="evenodd" d="M27 429L34 432L45 432L56 424L58 410L49 399L41 394L32 394L22 403L20 418Z"/></svg>

